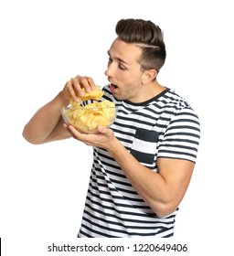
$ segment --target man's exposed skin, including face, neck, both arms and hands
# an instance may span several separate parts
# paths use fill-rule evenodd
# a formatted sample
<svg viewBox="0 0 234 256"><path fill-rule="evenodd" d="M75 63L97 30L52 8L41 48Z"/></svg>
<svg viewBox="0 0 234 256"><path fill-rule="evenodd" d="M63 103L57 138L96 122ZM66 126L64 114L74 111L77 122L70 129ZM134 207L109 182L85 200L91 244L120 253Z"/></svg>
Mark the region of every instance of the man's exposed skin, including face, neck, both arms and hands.
<svg viewBox="0 0 234 256"><path fill-rule="evenodd" d="M108 51L109 62L105 75L112 84L113 95L131 102L147 101L165 90L157 80L155 69L143 71L137 59L141 48L126 44L118 37ZM115 87L115 86L117 87ZM154 209L159 217L176 210L186 194L195 164L190 161L157 158L158 173L141 165L115 137L112 129L98 126L95 134L85 134L65 124L60 109L69 104L69 98L78 100L81 89L89 92L95 88L89 77L77 76L69 80L62 91L48 104L40 108L26 124L23 136L32 144L43 144L70 137L106 149L121 166L138 194Z"/></svg>

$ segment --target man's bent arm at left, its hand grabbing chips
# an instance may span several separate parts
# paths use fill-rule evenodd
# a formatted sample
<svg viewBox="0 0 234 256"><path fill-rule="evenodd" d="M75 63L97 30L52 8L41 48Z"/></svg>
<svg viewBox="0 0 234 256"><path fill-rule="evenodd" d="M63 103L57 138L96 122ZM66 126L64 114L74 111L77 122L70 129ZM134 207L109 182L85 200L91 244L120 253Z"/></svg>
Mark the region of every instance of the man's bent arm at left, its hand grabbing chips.
<svg viewBox="0 0 234 256"><path fill-rule="evenodd" d="M90 77L81 76L69 80L63 90L29 120L24 127L23 137L31 144L44 144L71 137L64 129L61 108L69 104L70 97L79 101L79 96L83 95L83 88L87 92L94 90L94 81Z"/></svg>

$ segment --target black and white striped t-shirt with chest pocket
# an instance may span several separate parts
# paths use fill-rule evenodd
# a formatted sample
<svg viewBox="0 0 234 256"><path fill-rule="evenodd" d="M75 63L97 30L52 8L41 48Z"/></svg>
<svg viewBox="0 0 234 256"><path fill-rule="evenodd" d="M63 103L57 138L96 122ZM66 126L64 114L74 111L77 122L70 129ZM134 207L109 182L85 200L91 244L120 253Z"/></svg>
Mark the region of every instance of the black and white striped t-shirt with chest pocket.
<svg viewBox="0 0 234 256"><path fill-rule="evenodd" d="M111 126L122 145L144 166L157 172L157 157L196 162L199 120L174 91L166 89L149 101L118 101L109 86L101 100L113 101L117 116ZM176 211L159 218L140 197L109 153L93 148L90 185L79 237L171 237Z"/></svg>

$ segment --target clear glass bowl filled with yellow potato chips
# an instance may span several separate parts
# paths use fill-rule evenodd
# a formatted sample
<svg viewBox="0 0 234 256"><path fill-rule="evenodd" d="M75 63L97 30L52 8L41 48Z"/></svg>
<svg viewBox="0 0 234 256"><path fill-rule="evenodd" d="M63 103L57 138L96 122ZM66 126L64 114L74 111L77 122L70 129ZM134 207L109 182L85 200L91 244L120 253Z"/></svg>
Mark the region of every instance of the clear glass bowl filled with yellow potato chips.
<svg viewBox="0 0 234 256"><path fill-rule="evenodd" d="M63 120L73 125L81 133L95 133L98 125L112 125L116 108L112 101L97 101L85 106L69 106L61 109Z"/></svg>

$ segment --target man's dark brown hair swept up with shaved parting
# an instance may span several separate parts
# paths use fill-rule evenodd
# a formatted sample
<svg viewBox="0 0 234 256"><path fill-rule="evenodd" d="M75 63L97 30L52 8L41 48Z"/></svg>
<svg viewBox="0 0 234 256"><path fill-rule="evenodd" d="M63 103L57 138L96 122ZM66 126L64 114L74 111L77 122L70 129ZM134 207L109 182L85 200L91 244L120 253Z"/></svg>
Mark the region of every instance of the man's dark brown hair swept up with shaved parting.
<svg viewBox="0 0 234 256"><path fill-rule="evenodd" d="M135 44L142 48L141 59L138 59L143 70L156 69L157 72L165 64L165 42L163 31L150 20L121 19L115 32L125 43Z"/></svg>

